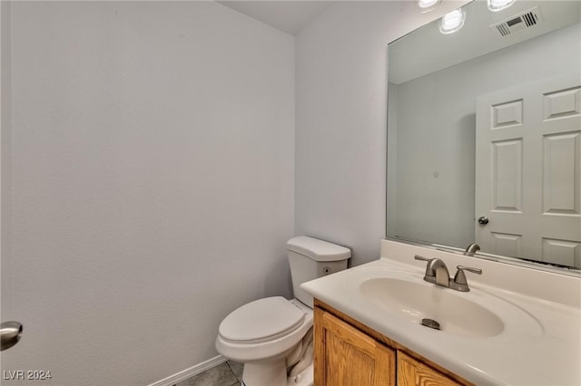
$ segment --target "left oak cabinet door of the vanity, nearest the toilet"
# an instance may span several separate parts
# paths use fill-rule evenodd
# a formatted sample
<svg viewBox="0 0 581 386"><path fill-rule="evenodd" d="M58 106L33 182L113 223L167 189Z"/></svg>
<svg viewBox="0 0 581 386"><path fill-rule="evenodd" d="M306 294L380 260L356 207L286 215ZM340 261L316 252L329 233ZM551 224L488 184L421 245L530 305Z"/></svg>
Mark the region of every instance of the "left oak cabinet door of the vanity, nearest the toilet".
<svg viewBox="0 0 581 386"><path fill-rule="evenodd" d="M315 386L395 385L395 352L315 308Z"/></svg>

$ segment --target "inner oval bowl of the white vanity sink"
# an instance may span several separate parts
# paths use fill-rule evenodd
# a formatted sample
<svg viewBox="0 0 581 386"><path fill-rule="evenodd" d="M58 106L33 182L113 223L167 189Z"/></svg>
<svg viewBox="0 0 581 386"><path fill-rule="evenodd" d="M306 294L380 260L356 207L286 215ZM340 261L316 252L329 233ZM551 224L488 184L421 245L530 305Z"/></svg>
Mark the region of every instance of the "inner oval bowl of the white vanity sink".
<svg viewBox="0 0 581 386"><path fill-rule="evenodd" d="M435 320L443 333L486 338L505 329L497 314L448 288L392 277L370 278L359 288L372 303L411 322Z"/></svg>

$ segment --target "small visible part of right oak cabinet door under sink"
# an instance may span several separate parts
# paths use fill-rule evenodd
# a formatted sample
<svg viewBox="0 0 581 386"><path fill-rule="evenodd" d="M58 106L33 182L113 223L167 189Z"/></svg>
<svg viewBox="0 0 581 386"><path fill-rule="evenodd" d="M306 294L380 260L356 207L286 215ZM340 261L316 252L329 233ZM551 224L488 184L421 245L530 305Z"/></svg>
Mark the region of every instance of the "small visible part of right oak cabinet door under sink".
<svg viewBox="0 0 581 386"><path fill-rule="evenodd" d="M398 352L399 386L461 386L446 375L418 362L404 352Z"/></svg>

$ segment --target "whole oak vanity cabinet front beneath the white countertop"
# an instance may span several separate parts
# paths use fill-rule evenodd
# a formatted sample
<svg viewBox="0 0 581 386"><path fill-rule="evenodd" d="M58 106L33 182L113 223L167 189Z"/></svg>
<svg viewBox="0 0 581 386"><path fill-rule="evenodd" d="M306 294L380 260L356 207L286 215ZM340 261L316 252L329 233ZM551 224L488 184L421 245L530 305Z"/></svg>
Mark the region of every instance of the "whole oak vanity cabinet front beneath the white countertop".
<svg viewBox="0 0 581 386"><path fill-rule="evenodd" d="M472 385L315 299L315 386Z"/></svg>

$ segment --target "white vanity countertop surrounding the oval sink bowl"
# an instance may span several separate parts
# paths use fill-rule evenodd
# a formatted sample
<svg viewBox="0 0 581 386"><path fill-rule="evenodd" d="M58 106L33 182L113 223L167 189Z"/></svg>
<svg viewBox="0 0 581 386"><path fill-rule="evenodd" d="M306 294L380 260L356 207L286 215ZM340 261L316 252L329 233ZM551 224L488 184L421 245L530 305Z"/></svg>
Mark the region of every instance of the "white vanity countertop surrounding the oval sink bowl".
<svg viewBox="0 0 581 386"><path fill-rule="evenodd" d="M384 254L384 250L385 248L382 248L384 256L377 261L310 281L301 287L340 312L350 315L475 384L581 385L581 307L576 303L579 294L571 294L563 303L553 301L553 297L557 295L548 294L551 292L551 287L561 288L559 285L551 285L551 281L559 281L556 275L548 279L547 277L539 278L535 283L530 280L530 275L535 278L536 275L546 273L527 272L525 274L528 275L527 281L531 282L528 285L532 287L550 285L546 290L547 299L539 299L537 296L527 294L526 291L520 293L514 291L514 284L511 287L512 291L509 291L498 286L487 285L486 280L470 280L475 276L467 274L468 284L472 291L458 293L459 296L465 296L470 300L489 297L497 299L496 302L507 302L514 306L517 313L525 317L513 319L513 321L518 320L520 324L507 320L505 331L496 336L450 335L428 329L419 323L411 323L399 314L378 307L377 304L362 296L359 284L373 277L402 273L410 280L423 282L426 263L415 262L413 255L402 257L401 250L398 250L397 258L389 258L385 256L389 253ZM415 249L404 252L408 255L418 253ZM453 264L458 263L458 259L462 258L448 256L446 253L442 255L440 252L435 254L421 247L419 247L419 253L430 258L442 258L452 272L455 266ZM450 261L447 261L448 258ZM475 266L474 259L469 263ZM498 265L491 262L477 265L482 267L483 277L487 275L487 271L492 272L497 269L497 267L491 268L490 264ZM503 267L501 266L500 269ZM514 272L512 275L515 275ZM581 288L579 278L566 277L561 280L568 283L567 288L570 291L575 292ZM497 285L499 282L502 283L502 280L495 278L493 282ZM526 284L521 285L527 288ZM534 294L537 290L538 288L532 288L532 293ZM522 321L525 322L522 323Z"/></svg>

